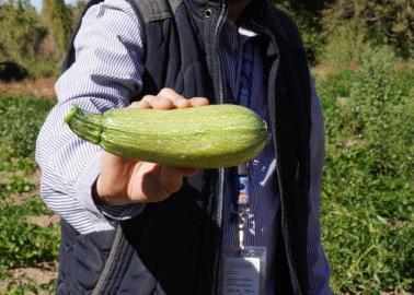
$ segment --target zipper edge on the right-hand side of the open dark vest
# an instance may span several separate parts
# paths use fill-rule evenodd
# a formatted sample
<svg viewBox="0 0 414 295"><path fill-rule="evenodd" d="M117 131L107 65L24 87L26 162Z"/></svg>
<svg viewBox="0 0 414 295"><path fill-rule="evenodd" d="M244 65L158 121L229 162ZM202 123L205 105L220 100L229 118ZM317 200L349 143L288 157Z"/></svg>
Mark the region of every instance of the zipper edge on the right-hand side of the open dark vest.
<svg viewBox="0 0 414 295"><path fill-rule="evenodd" d="M277 48L277 43L275 36L266 30L265 27L254 23L254 26L256 26L258 30L263 31L266 33L272 38L273 45ZM285 243L285 253L288 262L288 268L289 268L289 273L290 273L290 279L291 279L291 284L294 287L294 294L301 295L302 292L300 290L300 284L298 280L298 273L297 273L297 268L295 264L295 261L292 259L291 255L291 248L290 248L290 238L289 238L289 229L287 226L287 215L286 215L286 194L285 194L285 188L283 186L281 181L281 167L280 167L280 148L279 148L279 142L280 139L278 137L278 126L276 121L276 101L278 97L275 94L275 86L276 86L276 80L278 75L278 69L279 69L279 58L276 60L276 63L274 63L271 68L271 73L269 73L269 93L268 93L268 104L269 104L269 109L271 109L271 129L272 129L272 138L273 138L273 145L275 150L275 157L276 157L276 174L277 174L277 182L279 186L279 192L280 192L280 227L281 227L281 234L284 236L284 243Z"/></svg>

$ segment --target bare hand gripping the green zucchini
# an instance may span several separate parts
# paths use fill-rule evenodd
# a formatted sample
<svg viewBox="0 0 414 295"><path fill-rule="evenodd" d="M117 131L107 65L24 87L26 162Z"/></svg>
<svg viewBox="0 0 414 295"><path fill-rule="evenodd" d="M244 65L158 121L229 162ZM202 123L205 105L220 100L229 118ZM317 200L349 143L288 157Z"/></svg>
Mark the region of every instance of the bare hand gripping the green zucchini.
<svg viewBox="0 0 414 295"><path fill-rule="evenodd" d="M186 99L171 88L157 96L147 95L131 108L173 109L208 105L208 99ZM183 177L197 174L195 168L179 168L148 162L135 162L103 152L101 174L95 182L94 198L114 205L160 202L177 191Z"/></svg>

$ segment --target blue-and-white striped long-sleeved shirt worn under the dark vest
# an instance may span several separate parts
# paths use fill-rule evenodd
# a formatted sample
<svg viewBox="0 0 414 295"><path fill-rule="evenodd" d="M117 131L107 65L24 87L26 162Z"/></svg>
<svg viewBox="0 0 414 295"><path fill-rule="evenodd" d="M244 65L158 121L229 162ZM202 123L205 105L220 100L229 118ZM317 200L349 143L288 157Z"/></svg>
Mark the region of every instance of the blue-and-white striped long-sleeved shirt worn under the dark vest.
<svg viewBox="0 0 414 295"><path fill-rule="evenodd" d="M239 91L242 48L254 45L254 68L251 84L251 108L268 121L267 102L263 80L263 64L254 32L237 30L231 25L225 31L222 52L229 88L234 97ZM93 202L91 187L99 176L101 148L77 138L62 118L74 105L93 113L129 105L142 86L145 32L141 21L124 0L105 0L91 7L82 19L74 39L76 62L56 83L58 104L53 108L37 139L36 161L42 168L41 196L44 202L82 234L112 231L112 221L136 216L142 205L100 206ZM322 118L317 94L312 95L312 122L319 132L312 140L323 144ZM315 116L313 116L315 114ZM312 129L313 130L313 129ZM318 146L317 146L318 148ZM312 169L322 170L322 149L314 148ZM312 157L313 158L313 157ZM249 223L246 244L267 247L268 261L273 261L277 232L274 231L278 211L277 186L273 184L273 149L264 152L250 165L253 217ZM330 268L320 241L319 173L311 175L311 214L309 216L310 294L330 294ZM266 181L266 179L269 179ZM235 224L230 222L231 177L227 177L225 194L223 250L237 247ZM108 219L110 217L110 219ZM273 263L267 263L268 266ZM273 294L272 269L266 294Z"/></svg>

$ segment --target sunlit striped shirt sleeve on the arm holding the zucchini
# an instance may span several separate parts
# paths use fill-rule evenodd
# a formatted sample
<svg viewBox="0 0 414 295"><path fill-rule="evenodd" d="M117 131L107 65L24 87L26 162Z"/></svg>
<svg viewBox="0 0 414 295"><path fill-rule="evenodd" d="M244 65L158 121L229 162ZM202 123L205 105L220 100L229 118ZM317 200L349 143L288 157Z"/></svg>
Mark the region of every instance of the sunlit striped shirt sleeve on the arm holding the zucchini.
<svg viewBox="0 0 414 295"><path fill-rule="evenodd" d="M64 117L73 106L102 113L129 105L142 86L143 34L142 22L127 1L92 5L74 38L76 61L58 79L58 103L37 138L41 196L81 234L113 229L111 220L130 219L143 205L96 206L91 188L102 150L74 135Z"/></svg>

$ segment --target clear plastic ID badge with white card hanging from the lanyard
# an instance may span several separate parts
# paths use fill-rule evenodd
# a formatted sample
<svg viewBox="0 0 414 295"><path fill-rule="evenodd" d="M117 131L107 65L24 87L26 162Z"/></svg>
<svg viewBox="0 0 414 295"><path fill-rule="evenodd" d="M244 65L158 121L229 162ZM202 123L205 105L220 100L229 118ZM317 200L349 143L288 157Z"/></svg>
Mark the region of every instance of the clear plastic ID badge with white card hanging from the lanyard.
<svg viewBox="0 0 414 295"><path fill-rule="evenodd" d="M245 247L225 256L222 295L263 295L265 273L265 247Z"/></svg>

